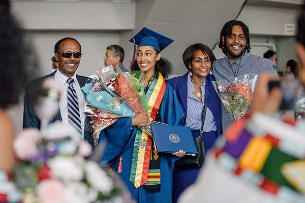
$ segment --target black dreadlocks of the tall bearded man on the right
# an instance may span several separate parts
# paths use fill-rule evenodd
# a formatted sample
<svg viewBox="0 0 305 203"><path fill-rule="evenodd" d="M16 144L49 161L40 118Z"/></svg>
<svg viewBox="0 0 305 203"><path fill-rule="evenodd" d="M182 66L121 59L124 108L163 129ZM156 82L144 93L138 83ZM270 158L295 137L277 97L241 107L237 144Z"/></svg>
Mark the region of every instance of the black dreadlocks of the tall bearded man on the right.
<svg viewBox="0 0 305 203"><path fill-rule="evenodd" d="M226 24L223 26L223 28L221 29L220 32L220 40L219 40L219 45L218 47L222 49L223 53L227 55L227 48L226 48L226 37L231 35L232 33L232 27L234 25L239 25L240 27L242 27L242 31L246 36L246 40L247 40L247 45L246 45L246 49L248 51L248 53L250 52L250 35L249 35L249 28L247 27L247 25L239 20L230 20L228 22L226 22ZM225 37L225 42L222 42L222 37Z"/></svg>

